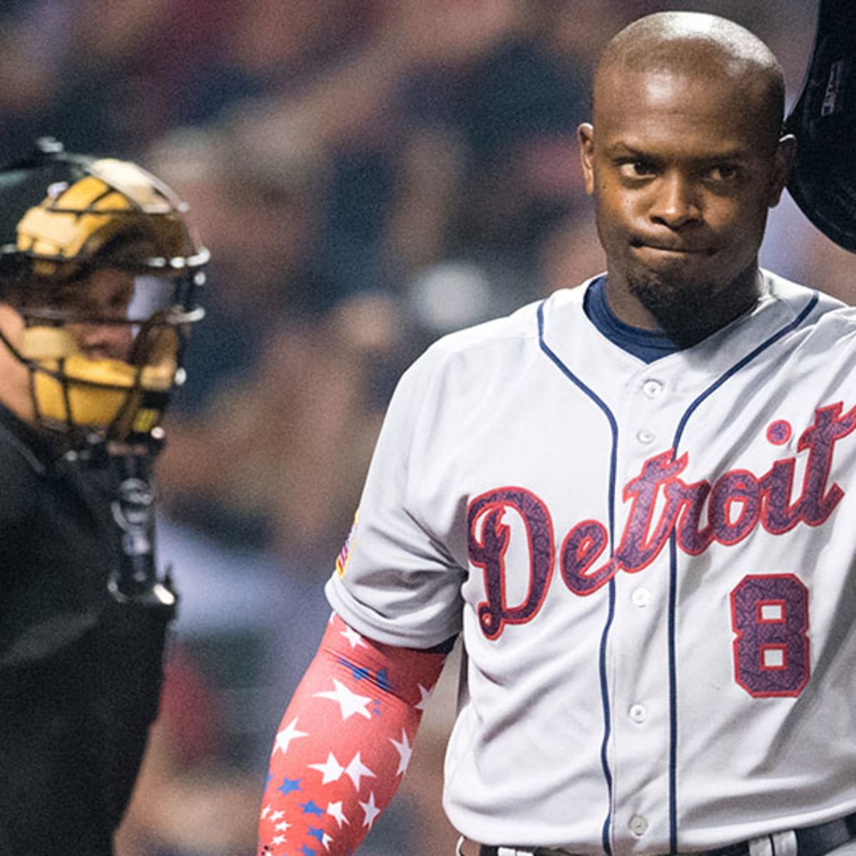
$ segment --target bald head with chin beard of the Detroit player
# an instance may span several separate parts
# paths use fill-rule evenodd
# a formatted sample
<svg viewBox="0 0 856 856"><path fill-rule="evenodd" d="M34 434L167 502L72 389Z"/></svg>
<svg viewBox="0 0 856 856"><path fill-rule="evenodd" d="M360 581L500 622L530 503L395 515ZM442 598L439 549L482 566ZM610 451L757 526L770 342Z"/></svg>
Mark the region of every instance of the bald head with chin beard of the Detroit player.
<svg viewBox="0 0 856 856"><path fill-rule="evenodd" d="M758 300L794 153L784 89L770 50L710 15L651 15L609 43L580 147L621 321L693 345Z"/></svg>

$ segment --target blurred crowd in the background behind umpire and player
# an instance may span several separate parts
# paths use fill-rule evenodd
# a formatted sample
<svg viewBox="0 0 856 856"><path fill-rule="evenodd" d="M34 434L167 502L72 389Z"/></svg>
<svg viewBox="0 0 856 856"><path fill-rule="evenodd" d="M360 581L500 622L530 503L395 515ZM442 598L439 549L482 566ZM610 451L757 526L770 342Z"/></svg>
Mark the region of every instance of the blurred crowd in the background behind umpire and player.
<svg viewBox="0 0 856 856"><path fill-rule="evenodd" d="M776 51L806 0L3 0L0 156L42 135L131 158L191 206L208 317L158 465L182 591L119 856L253 853L267 755L312 657L396 378L437 336L572 287L603 257L575 128L639 15L694 9ZM856 302L853 256L789 197L762 263ZM455 674L366 856L438 856Z"/></svg>

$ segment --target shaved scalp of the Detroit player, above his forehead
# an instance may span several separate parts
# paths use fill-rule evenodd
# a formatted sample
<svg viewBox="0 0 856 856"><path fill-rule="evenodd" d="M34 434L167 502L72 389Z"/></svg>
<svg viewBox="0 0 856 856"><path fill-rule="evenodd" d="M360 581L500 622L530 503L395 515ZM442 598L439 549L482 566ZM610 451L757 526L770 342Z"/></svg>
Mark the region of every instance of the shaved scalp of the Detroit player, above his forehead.
<svg viewBox="0 0 856 856"><path fill-rule="evenodd" d="M594 115L610 86L633 74L681 74L725 81L752 104L755 120L775 146L782 131L785 80L767 45L746 28L717 15L658 12L633 21L603 49L594 82ZM769 136L767 134L769 132Z"/></svg>

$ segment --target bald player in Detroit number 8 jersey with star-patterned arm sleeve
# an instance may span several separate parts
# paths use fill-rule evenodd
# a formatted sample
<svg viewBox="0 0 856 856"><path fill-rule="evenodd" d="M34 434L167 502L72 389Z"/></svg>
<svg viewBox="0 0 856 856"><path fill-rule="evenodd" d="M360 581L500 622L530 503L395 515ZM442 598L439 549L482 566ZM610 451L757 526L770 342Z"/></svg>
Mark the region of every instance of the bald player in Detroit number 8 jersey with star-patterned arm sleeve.
<svg viewBox="0 0 856 856"><path fill-rule="evenodd" d="M722 18L609 42L579 131L607 270L401 378L260 853L357 850L459 636L459 853L847 846L856 312L758 268L783 102Z"/></svg>

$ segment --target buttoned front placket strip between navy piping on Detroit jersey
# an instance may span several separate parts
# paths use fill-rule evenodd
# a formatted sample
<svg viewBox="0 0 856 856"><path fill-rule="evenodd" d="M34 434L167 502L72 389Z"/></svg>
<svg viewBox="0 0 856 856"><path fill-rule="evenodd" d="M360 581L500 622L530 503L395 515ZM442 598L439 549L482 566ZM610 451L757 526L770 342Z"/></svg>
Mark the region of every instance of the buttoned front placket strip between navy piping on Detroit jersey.
<svg viewBox="0 0 856 856"><path fill-rule="evenodd" d="M634 483L648 472L646 462L668 452L675 412L668 374L654 364L628 384L618 419L623 431L615 550L621 565L612 581L615 611L607 661L615 854L669 850L670 550L668 538L656 538L665 510L662 487L646 503L650 485L645 490ZM639 651L649 655L640 657Z"/></svg>

